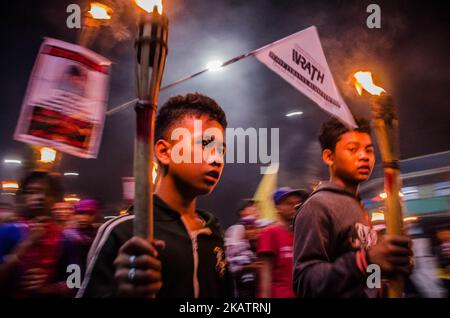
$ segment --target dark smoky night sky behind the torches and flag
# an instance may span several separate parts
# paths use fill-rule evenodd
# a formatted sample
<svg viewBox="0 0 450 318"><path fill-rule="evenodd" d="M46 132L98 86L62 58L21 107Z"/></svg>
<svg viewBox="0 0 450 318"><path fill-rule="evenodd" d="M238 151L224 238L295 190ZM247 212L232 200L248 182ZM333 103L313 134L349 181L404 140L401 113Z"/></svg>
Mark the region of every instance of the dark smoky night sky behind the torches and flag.
<svg viewBox="0 0 450 318"><path fill-rule="evenodd" d="M135 98L133 1L105 1L114 22L100 30L92 49L113 61L108 108ZM20 157L24 144L13 140L36 54L44 36L75 42L66 26L66 7L75 1L2 2L0 158ZM81 2L78 2L81 3ZM450 2L376 1L381 29L368 29L374 1L168 0L169 55L163 85L285 36L317 26L328 64L354 115L369 116L367 99L356 95L351 75L369 69L396 101L401 158L450 149ZM329 116L254 58L206 73L164 91L170 96L198 91L224 108L229 126L280 128L279 185L308 187L326 177L317 133ZM287 118L289 111L303 111ZM80 173L67 185L81 196L97 197L108 211L118 208L121 177L132 175L132 108L106 118L95 160L64 156L62 170ZM226 165L222 180L199 207L213 211L226 227L236 221L241 198L253 195L261 178L258 164ZM11 173L3 164L0 178Z"/></svg>

